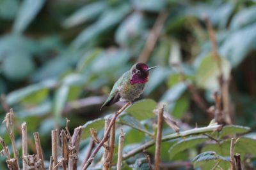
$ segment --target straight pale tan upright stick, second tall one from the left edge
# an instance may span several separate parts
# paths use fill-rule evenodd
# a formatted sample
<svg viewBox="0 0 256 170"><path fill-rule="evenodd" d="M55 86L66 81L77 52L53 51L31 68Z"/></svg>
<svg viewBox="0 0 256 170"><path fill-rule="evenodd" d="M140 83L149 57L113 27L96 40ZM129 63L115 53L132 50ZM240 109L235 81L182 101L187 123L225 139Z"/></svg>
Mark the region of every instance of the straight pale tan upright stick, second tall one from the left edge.
<svg viewBox="0 0 256 170"><path fill-rule="evenodd" d="M28 164L25 161L25 157L28 156L28 132L27 132L27 124L23 122L21 124L21 132L22 132L22 168L28 169Z"/></svg>

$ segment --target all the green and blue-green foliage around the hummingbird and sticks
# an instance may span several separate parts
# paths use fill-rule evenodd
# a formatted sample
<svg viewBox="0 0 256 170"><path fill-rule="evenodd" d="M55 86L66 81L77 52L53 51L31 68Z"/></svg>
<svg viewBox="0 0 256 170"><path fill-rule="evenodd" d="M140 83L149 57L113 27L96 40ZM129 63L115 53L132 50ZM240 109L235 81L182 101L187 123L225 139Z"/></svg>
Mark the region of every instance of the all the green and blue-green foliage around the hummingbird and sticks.
<svg viewBox="0 0 256 170"><path fill-rule="evenodd" d="M28 123L29 136L32 132L40 133L45 158L49 159L51 154L50 131L64 127L65 117L70 120L70 129L84 124L84 138L89 135L88 128L102 129L102 117L109 117L108 113L116 110L111 106L99 111L106 98L103 96L109 94L118 77L138 60L157 16L164 10L168 11L168 18L147 62L158 69L150 74L141 98L166 103L166 111L188 126L210 122L211 118L193 100L179 70L173 66L179 62L184 77L195 86L207 106L214 104L212 92L219 89L219 72L204 22L209 17L216 31L224 76L231 79L232 120L255 131L255 1L0 0L0 93L6 95L6 103L15 111L17 123ZM125 147L131 149L154 133L155 101L148 99L134 104L118 120L126 132ZM0 111L3 120L6 112L3 106ZM193 160L196 166L204 167L202 162L213 160L207 166L221 161L220 166L227 167L230 139L223 136L247 132L248 127L223 129L218 136L220 145L202 147L205 140L209 141L205 136L189 137L186 140L191 145L185 139L168 142L165 148L174 151L165 150L163 154L168 156L164 161L192 160L202 152ZM8 141L3 124L0 129L0 136ZM164 127L164 134L170 133L170 128ZM250 138L239 139L236 149L243 158L243 154L255 157L255 133L250 133ZM127 160L124 168L131 164L135 169L148 166L140 161L143 155L136 158ZM255 161L251 160L247 162L252 167ZM0 169L5 169L4 161Z"/></svg>

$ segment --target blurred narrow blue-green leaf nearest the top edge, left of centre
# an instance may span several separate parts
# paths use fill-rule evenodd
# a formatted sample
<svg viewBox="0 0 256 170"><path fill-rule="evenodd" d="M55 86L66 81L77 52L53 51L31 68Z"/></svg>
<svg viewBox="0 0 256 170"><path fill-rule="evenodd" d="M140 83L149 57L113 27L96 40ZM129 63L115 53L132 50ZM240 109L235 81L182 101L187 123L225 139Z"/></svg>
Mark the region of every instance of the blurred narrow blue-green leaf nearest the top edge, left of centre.
<svg viewBox="0 0 256 170"><path fill-rule="evenodd" d="M105 2L96 2L83 6L70 17L68 17L64 22L63 26L66 28L74 27L79 24L83 24L88 20L92 20L97 17L106 8Z"/></svg>

